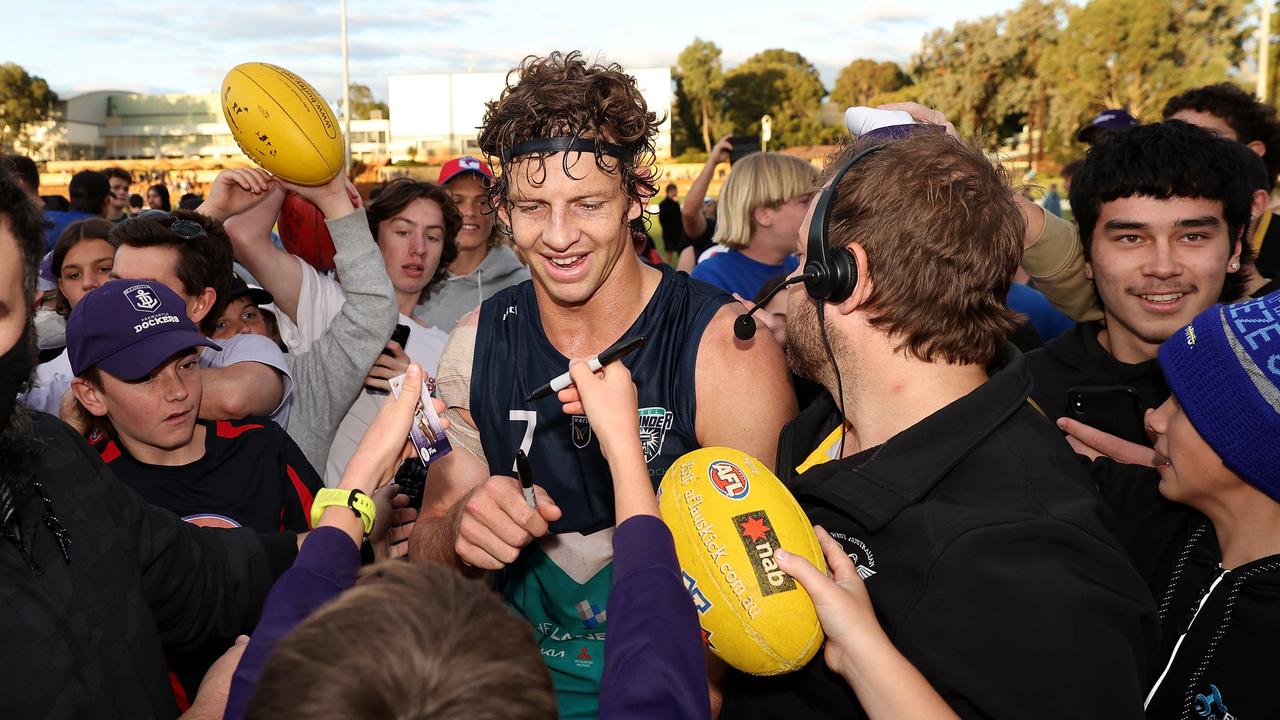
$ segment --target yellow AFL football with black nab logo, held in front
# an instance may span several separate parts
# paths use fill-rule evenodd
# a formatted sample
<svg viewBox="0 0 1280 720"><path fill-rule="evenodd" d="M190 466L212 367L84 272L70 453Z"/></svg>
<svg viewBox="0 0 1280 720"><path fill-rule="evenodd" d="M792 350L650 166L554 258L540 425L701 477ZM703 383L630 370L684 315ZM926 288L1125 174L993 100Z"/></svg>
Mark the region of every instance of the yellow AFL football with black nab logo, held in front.
<svg viewBox="0 0 1280 720"><path fill-rule="evenodd" d="M768 468L739 450L695 450L667 470L658 509L712 652L754 675L813 659L823 641L818 612L773 553L786 548L823 573L827 562L809 518Z"/></svg>

